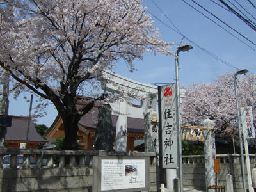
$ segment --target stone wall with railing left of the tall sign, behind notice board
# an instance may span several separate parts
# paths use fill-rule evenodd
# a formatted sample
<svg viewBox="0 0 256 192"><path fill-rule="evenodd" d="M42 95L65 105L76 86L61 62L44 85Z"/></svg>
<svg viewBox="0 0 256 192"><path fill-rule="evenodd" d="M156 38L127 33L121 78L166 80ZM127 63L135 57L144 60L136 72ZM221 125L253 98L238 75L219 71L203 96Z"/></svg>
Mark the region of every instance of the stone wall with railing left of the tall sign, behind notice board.
<svg viewBox="0 0 256 192"><path fill-rule="evenodd" d="M92 157L98 156L100 152L86 151L44 151L47 158L47 165L41 166L36 163L35 168L30 168L27 160L30 155L38 156L40 159L40 150L17 150L0 149L0 191L3 192L92 192L93 168ZM4 154L11 154L11 163L8 169L3 169ZM16 168L14 159L18 154L24 155L22 169ZM131 152L131 153L113 153L108 154L118 156L149 156L150 157L150 192L159 189L158 168L156 166L156 154L153 152ZM58 167L54 167L56 156L59 157ZM54 157L54 158L53 158ZM68 165L65 162L68 159ZM38 160L39 161L39 160ZM38 165L40 165L38 167ZM147 192L149 192L147 191ZM146 191L143 191L146 192Z"/></svg>

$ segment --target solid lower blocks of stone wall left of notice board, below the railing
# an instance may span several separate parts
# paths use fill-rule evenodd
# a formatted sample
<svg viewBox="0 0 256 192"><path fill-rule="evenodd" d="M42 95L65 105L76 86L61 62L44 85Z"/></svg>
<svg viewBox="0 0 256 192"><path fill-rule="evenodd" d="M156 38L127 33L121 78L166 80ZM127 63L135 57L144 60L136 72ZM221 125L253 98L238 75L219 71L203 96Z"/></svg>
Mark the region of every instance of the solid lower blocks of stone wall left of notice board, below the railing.
<svg viewBox="0 0 256 192"><path fill-rule="evenodd" d="M0 170L0 191L92 191L92 169L45 168Z"/></svg>

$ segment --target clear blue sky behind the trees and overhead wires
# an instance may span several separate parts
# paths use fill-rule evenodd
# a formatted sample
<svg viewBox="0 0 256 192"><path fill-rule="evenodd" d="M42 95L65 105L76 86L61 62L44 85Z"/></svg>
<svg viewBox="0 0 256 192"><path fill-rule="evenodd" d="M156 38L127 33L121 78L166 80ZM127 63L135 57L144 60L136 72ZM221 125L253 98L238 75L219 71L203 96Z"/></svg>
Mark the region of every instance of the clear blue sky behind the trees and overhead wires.
<svg viewBox="0 0 256 192"><path fill-rule="evenodd" d="M193 1L184 1L198 8ZM161 39L166 42L175 42L177 45L181 43L181 45L190 44L193 46L193 49L189 52L180 52L179 54L180 85L189 86L189 84L193 83L212 83L214 79L221 76L221 74L227 72L234 73L237 69L246 68L250 73L255 74L256 52L211 22L211 20L205 18L202 14L193 10L193 8L184 3L184 1L145 0L143 2L143 5L148 7L149 12L153 13L161 20L161 22L159 22L155 17L152 17L152 19L156 21L154 26L159 28L159 31L162 34ZM200 0L196 2L202 4L205 8L220 17L220 19L225 20L227 24L230 24L230 26L242 33L252 42L256 42L256 32L246 26L246 24L239 20L235 15L223 10L220 6L216 6L212 1ZM256 10L248 4L248 1L239 2L246 8L246 10L248 10L248 12L254 13L254 17L256 17ZM154 3L159 6L163 13ZM198 8L198 10L203 12L202 8ZM209 14L207 15L209 16ZM211 19L214 19L214 17L211 17ZM170 22L170 20L172 20L172 22ZM216 19L214 20L218 22L218 24L221 24ZM175 26L173 26L172 23L175 24ZM176 33L166 25L173 29L176 27L184 36L186 36L186 38L189 38L189 40L195 42L195 44L200 45L211 52L211 54L218 56L218 58L221 58L221 60L226 61L233 67L216 60L216 58L205 53L197 45L189 42L186 38L183 38L182 40L182 35ZM225 27L223 24L221 24L221 26ZM228 29L227 27L225 28ZM253 47L253 49L256 49L255 45L244 40L231 29L228 29L228 31L232 32L243 40L243 42L246 42L246 44ZM172 51L175 52L176 50L177 46L172 46ZM134 61L138 70L133 73L128 72L127 67L123 64L124 63L120 61L118 67L115 68L115 72L122 76L148 84L175 83L175 58L173 56L163 56L161 54L154 56L152 54L145 54L143 60ZM29 94L28 98L30 98ZM22 97L17 101L10 98L9 115L28 116L28 113L28 102ZM48 115L38 119L37 123L45 124L49 127L56 115L57 113L56 110L54 110L54 106L51 106Z"/></svg>

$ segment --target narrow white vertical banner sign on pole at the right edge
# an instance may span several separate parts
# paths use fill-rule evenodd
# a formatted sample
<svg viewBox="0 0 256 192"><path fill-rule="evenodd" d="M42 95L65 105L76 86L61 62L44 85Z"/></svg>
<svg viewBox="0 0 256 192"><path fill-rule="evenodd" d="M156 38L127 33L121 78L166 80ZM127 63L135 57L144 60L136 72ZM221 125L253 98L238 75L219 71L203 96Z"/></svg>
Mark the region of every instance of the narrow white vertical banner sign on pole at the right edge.
<svg viewBox="0 0 256 192"><path fill-rule="evenodd" d="M243 125L244 138L255 138L255 129L253 125L252 106L240 108L241 111L241 124Z"/></svg>

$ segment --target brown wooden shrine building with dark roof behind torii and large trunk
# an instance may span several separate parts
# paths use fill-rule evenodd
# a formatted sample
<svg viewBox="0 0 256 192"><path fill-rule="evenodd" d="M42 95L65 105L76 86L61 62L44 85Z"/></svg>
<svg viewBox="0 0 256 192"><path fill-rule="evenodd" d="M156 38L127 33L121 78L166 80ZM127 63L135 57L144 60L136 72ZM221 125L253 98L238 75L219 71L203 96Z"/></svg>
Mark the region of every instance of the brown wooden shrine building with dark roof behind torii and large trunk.
<svg viewBox="0 0 256 192"><path fill-rule="evenodd" d="M79 103L78 103L79 104ZM133 105L133 107L140 108L140 106ZM81 150L94 150L93 140L95 138L95 131L97 127L98 108L93 106L89 113L86 113L78 123L77 143ZM114 131L114 141L116 135L116 121L118 115L112 116L112 124ZM52 143L57 138L64 138L64 125L61 116L58 114L52 123L51 127L45 133L48 140ZM127 151L134 150L134 141L144 138L144 121L141 118L127 118ZM114 143L115 146L115 143Z"/></svg>

